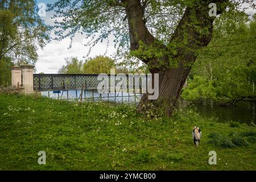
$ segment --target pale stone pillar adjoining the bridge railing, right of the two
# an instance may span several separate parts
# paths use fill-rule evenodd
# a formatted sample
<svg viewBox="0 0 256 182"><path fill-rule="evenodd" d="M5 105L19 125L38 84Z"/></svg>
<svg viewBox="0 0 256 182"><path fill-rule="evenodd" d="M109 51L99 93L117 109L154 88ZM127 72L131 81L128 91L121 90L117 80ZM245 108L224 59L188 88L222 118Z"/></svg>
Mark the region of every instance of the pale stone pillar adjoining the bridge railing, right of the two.
<svg viewBox="0 0 256 182"><path fill-rule="evenodd" d="M24 87L25 93L33 93L33 70L34 65L26 64L20 66L22 68L22 85Z"/></svg>

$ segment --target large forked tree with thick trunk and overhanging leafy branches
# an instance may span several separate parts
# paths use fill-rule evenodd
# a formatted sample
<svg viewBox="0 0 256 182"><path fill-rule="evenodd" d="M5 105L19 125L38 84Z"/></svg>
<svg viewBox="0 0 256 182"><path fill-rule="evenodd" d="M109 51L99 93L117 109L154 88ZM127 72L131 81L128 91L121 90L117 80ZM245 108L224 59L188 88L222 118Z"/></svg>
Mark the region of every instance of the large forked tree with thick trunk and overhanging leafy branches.
<svg viewBox="0 0 256 182"><path fill-rule="evenodd" d="M159 73L158 100L148 100L144 94L138 111L143 113L151 105L163 107L171 116L198 51L212 39L215 16L209 16L210 3L215 3L217 15L238 4L228 0L59 0L48 6L61 19L56 21L59 39L80 33L90 39L86 46L94 46L114 35L119 55L136 57L151 73Z"/></svg>

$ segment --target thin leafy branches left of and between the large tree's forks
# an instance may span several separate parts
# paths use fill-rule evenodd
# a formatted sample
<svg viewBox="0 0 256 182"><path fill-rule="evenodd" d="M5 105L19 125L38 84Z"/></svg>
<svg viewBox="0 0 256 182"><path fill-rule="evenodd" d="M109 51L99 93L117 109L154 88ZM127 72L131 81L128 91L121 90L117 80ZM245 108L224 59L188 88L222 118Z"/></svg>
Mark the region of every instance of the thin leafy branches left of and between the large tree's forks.
<svg viewBox="0 0 256 182"><path fill-rule="evenodd" d="M160 42L167 44L183 14L184 7L187 6L187 1L148 1L143 3L147 4L144 6L145 21L147 17L146 26ZM92 38L86 44L86 46L92 47L108 39L110 35L114 35L114 46L117 48L118 55L127 53L126 51L130 48L129 27L125 17L127 3L112 0L78 0L75 2L61 0L48 6L49 10L55 10L56 17L65 17L61 22L56 22L56 28L58 28L56 35L59 39L79 32ZM77 8L74 9L74 6ZM175 11L175 14L171 14L171 11ZM157 51L153 50L151 53L157 53Z"/></svg>

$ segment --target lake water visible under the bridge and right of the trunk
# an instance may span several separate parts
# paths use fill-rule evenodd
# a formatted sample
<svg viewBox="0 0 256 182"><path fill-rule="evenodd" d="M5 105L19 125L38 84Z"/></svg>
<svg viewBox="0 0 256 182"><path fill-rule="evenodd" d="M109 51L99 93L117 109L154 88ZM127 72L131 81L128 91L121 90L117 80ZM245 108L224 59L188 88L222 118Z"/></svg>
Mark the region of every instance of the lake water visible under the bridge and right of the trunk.
<svg viewBox="0 0 256 182"><path fill-rule="evenodd" d="M77 90L77 98L80 96L81 90ZM61 93L59 93L59 96L57 93L49 92L49 97L51 98L61 98ZM100 94L97 93L97 91L88 91L86 90L85 94L83 92L82 98L86 97L86 100L92 101L92 96L94 94L94 101L97 100L102 100L102 101L110 101L110 102L129 102L132 104L138 103L141 95L136 94L134 97L133 94L128 93L123 93L123 98L122 93L116 93L116 98L114 97L115 94L104 94L102 98L100 99ZM42 96L47 96L48 97L48 92L42 92ZM128 97L129 96L129 97ZM68 97L69 99L76 99L76 91L75 90L69 90L68 92ZM67 99L67 92L63 92L62 99ZM236 106L234 107L222 107L218 106L217 103L214 102L206 102L202 104L200 101L194 101L194 102L186 102L186 101L181 101L181 106L185 109L196 109L197 112L203 116L203 117L214 117L218 118L218 122L226 122L226 121L238 121L240 123L247 123L250 124L251 122L256 123L256 102L248 102L248 101L240 101L237 102Z"/></svg>

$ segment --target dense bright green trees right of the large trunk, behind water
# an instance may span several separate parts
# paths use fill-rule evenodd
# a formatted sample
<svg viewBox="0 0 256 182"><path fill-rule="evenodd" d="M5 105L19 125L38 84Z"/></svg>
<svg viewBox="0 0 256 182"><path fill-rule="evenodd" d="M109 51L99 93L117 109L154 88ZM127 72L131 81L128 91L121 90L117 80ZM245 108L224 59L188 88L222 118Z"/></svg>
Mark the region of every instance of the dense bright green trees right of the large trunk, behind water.
<svg viewBox="0 0 256 182"><path fill-rule="evenodd" d="M220 31L221 30L221 31ZM218 18L213 39L200 53L189 75L186 100L217 100L233 105L256 98L256 15Z"/></svg>

